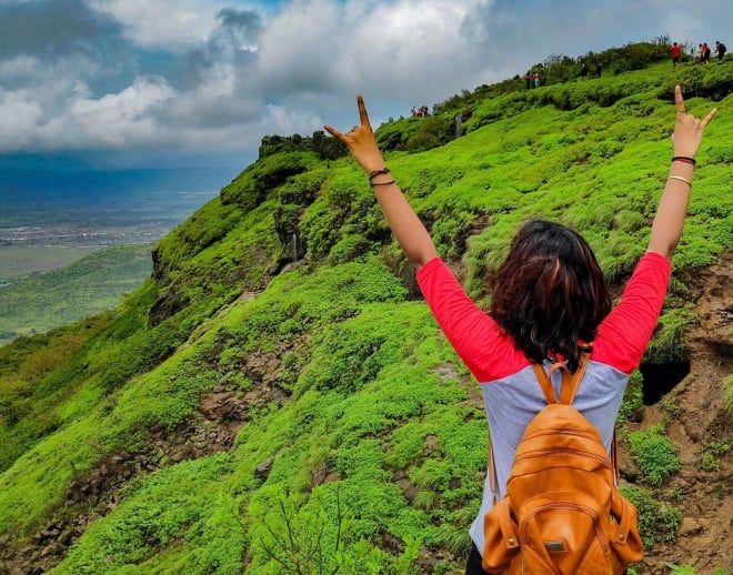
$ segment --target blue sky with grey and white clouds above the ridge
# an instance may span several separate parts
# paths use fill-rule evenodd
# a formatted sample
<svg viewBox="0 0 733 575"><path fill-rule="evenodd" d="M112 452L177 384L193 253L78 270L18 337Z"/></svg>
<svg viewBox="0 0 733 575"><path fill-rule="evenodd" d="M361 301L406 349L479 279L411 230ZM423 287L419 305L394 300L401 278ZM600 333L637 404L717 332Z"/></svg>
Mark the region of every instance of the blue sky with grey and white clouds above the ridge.
<svg viewBox="0 0 733 575"><path fill-rule="evenodd" d="M0 161L241 169L264 134L351 127L357 93L379 124L550 54L731 46L731 21L730 0L0 0Z"/></svg>

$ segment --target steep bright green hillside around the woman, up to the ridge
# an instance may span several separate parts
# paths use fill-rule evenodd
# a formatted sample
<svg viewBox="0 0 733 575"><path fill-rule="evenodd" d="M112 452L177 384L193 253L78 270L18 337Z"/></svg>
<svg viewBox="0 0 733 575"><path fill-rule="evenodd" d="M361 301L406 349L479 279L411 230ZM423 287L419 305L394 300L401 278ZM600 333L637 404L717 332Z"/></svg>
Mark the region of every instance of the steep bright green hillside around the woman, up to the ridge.
<svg viewBox="0 0 733 575"><path fill-rule="evenodd" d="M703 377L703 344L686 334L733 245L733 61L478 90L378 137L478 301L538 215L588 238L619 293L669 170L675 82L690 112L720 112L645 364L687 362L685 381L720 397L730 351L719 342ZM451 140L459 113L464 135ZM267 143L159 242L153 276L113 313L0 349L0 572L461 572L486 464L478 390L353 161L320 134ZM641 394L637 373L620 422L626 490L657 561L695 563L690 546L665 545L697 490L684 470L717 486L711 502L730 492L729 418L685 438L677 472L650 453L666 441L679 463L687 400L670 394L650 427L639 421L661 407ZM701 567L730 567L726 546L709 545Z"/></svg>

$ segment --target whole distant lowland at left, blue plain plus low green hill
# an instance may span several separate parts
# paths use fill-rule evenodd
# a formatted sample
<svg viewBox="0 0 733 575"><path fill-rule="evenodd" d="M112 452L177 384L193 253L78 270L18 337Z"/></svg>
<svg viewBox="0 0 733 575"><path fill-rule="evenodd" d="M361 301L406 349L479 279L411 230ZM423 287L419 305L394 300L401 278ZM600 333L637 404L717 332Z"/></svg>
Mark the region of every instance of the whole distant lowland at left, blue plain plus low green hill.
<svg viewBox="0 0 733 575"><path fill-rule="evenodd" d="M150 275L152 244L230 179L0 168L0 345L114 307Z"/></svg>

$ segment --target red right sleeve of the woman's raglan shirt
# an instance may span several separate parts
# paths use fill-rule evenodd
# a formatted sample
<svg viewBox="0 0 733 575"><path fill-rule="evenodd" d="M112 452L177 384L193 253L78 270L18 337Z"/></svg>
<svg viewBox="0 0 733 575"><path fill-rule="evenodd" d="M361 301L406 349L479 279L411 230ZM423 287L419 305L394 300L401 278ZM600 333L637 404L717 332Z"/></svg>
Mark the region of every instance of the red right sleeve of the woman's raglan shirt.
<svg viewBox="0 0 733 575"><path fill-rule="evenodd" d="M636 264L621 301L599 325L592 359L631 373L662 311L671 265L659 253L647 252Z"/></svg>

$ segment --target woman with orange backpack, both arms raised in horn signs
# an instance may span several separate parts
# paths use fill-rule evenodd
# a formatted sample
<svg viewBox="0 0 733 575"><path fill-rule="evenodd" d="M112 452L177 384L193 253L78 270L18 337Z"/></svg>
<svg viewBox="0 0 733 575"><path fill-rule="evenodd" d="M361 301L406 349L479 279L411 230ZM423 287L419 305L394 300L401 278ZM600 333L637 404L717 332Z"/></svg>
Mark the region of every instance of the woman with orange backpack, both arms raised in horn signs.
<svg viewBox="0 0 733 575"><path fill-rule="evenodd" d="M530 220L516 231L509 254L494 274L491 310L484 312L440 258L402 194L376 145L361 95L357 98L358 125L345 133L324 127L349 148L366 173L392 233L416 270L425 302L483 393L493 464L484 483L481 508L470 528L473 546L466 575L519 573L520 564L522 571L526 567L526 573L621 574L629 563L642 557L635 513L627 513L633 506L623 500L615 484L604 484L609 487L602 492L605 506L599 504L601 512L593 514L589 510L596 507L582 503L589 497L564 505L543 495L535 501L533 511L520 507L525 514L516 515L510 514L508 505L514 504L512 485L516 483L512 483L515 481L512 470L520 463L514 461L515 451L524 444L528 424L541 411L546 413L548 407L553 407L548 403L556 392L550 390L559 389L561 377L564 383L566 377L574 376L580 387L573 401L574 391L565 394L563 386L561 395L569 396L570 402L562 401L566 405L558 407L580 412L578 416L584 417L593 431L585 437L594 437L602 452L594 462L583 462L598 473L612 468L609 461L613 461L610 454L614 451L619 406L664 303L671 260L692 191L694 157L705 127L716 112L713 109L702 120L687 114L679 85L674 98L676 122L670 172L646 253L636 263L615 306L588 242L559 223ZM576 438L560 434L539 440L560 443ZM574 458L586 452L566 448L563 453L562 461L570 468ZM564 470L565 464L555 468ZM573 468L579 473L584 471L578 465ZM584 485L575 482L548 487L554 490L548 493L569 501ZM592 498L593 505L600 501ZM540 506L542 502L548 503ZM620 510L624 512L622 515ZM526 522L521 531L518 517ZM528 541L532 547L525 546Z"/></svg>

